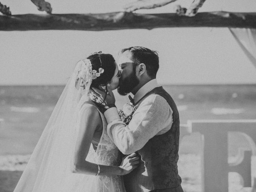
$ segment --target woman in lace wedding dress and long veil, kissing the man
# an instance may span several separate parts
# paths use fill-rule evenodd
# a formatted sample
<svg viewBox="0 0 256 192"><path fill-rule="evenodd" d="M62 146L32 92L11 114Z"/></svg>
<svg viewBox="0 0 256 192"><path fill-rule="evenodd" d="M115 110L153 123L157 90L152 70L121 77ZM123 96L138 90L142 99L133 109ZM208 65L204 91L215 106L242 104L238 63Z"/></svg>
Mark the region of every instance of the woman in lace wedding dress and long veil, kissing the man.
<svg viewBox="0 0 256 192"><path fill-rule="evenodd" d="M119 77L110 54L76 64L14 192L125 192L122 175L139 158L122 158L90 94L90 88L116 89Z"/></svg>

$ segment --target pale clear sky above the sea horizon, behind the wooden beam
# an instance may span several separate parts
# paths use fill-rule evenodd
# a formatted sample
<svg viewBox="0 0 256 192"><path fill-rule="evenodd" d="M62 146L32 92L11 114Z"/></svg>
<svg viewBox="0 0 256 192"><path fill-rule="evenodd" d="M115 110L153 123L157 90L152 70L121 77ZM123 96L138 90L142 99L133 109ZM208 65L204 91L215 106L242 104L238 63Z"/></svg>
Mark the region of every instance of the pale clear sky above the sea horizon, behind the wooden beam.
<svg viewBox="0 0 256 192"><path fill-rule="evenodd" d="M122 11L132 0L62 0L51 3L52 13ZM173 12L178 0L138 13ZM12 14L44 14L29 0L1 0ZM205 11L255 12L255 0L206 0ZM255 84L256 68L240 49L228 28L156 28L153 30L0 31L0 85L65 84L78 60L96 51L113 54L130 46L157 50L159 84Z"/></svg>

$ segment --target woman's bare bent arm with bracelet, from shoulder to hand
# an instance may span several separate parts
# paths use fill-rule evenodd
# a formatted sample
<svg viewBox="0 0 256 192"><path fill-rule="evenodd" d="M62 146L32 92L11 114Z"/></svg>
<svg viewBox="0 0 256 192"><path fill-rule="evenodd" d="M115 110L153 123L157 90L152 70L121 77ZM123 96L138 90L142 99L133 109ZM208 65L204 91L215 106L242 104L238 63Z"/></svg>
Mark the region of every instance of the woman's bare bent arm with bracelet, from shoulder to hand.
<svg viewBox="0 0 256 192"><path fill-rule="evenodd" d="M82 109L80 116L80 127L76 146L74 150L74 159L72 160L72 172L96 175L98 173L98 165L86 161L94 132L102 126L102 120L98 110L94 106L86 106ZM121 166L100 166L98 175L125 175L137 167L139 163L136 154L127 156Z"/></svg>

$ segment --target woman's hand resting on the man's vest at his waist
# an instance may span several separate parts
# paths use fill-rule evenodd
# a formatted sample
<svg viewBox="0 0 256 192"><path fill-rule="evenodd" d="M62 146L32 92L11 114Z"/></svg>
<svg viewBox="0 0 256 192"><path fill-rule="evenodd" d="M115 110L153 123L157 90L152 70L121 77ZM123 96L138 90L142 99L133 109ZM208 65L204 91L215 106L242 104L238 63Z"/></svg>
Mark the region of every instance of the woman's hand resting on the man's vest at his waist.
<svg viewBox="0 0 256 192"><path fill-rule="evenodd" d="M136 167L138 167L140 163L140 158L137 156L136 153L132 153L127 155L123 158L121 165L119 166L122 169L122 175L126 175Z"/></svg>

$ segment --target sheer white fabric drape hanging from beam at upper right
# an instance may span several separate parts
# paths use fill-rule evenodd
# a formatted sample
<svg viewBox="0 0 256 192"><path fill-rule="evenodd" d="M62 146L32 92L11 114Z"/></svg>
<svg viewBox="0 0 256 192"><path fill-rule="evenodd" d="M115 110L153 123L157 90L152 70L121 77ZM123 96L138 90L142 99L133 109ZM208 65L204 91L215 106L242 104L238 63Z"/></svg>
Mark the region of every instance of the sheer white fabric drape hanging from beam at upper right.
<svg viewBox="0 0 256 192"><path fill-rule="evenodd" d="M229 28L246 56L256 67L256 29Z"/></svg>

